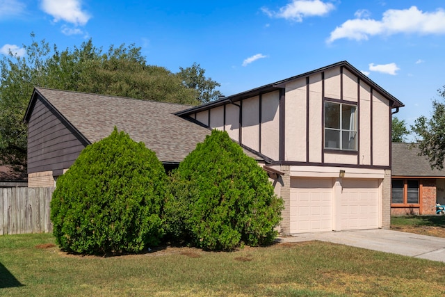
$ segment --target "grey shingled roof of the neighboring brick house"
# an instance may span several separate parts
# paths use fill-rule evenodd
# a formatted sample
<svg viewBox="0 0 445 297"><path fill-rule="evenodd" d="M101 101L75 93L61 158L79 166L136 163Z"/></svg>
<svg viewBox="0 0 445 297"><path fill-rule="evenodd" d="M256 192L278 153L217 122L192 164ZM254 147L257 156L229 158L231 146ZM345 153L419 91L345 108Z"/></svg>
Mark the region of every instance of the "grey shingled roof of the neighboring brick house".
<svg viewBox="0 0 445 297"><path fill-rule="evenodd" d="M391 175L393 177L445 177L445 169L431 169L426 156L419 156L415 143L392 143Z"/></svg>

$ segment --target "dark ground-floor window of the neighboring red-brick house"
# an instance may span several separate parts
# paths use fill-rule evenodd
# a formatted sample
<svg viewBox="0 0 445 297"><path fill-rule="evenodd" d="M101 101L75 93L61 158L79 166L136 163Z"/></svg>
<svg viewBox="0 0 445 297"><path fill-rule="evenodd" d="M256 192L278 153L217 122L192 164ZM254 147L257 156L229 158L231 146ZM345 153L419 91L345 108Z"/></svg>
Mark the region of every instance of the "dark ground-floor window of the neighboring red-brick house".
<svg viewBox="0 0 445 297"><path fill-rule="evenodd" d="M419 180L393 179L391 203L419 204Z"/></svg>

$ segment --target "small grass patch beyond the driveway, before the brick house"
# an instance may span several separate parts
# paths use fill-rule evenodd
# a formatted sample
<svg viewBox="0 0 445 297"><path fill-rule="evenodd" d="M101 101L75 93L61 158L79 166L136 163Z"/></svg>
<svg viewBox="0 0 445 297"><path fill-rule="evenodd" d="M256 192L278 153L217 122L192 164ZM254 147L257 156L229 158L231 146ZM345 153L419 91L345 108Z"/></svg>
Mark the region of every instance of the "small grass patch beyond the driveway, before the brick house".
<svg viewBox="0 0 445 297"><path fill-rule="evenodd" d="M391 229L445 238L445 216L392 216Z"/></svg>

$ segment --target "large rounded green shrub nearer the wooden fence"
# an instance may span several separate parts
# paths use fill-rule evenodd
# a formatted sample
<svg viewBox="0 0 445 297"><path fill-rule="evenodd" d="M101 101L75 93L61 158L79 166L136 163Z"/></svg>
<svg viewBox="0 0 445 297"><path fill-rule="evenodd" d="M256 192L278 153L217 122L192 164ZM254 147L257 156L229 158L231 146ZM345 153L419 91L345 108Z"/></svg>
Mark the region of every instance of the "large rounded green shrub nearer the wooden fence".
<svg viewBox="0 0 445 297"><path fill-rule="evenodd" d="M57 180L51 201L60 248L103 254L157 245L165 179L156 154L123 131L88 145Z"/></svg>

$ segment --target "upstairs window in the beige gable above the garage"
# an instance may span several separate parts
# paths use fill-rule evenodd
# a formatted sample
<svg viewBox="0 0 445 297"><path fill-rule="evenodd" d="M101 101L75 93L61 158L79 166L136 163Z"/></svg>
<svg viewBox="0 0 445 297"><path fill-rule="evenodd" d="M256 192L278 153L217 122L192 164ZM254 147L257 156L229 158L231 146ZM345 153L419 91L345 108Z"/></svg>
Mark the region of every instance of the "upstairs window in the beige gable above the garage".
<svg viewBox="0 0 445 297"><path fill-rule="evenodd" d="M325 102L325 148L357 150L357 106Z"/></svg>

